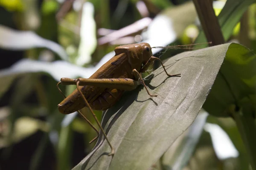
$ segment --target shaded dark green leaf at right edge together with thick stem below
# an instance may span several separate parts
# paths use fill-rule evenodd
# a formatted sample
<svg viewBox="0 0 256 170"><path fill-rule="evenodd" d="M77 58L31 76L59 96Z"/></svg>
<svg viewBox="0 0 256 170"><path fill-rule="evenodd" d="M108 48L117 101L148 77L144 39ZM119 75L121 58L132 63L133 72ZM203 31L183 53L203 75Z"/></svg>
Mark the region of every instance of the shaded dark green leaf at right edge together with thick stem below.
<svg viewBox="0 0 256 170"><path fill-rule="evenodd" d="M253 170L256 170L255 65L255 54L242 45L231 44L212 91L204 103L204 109L210 114L232 116L235 119Z"/></svg>

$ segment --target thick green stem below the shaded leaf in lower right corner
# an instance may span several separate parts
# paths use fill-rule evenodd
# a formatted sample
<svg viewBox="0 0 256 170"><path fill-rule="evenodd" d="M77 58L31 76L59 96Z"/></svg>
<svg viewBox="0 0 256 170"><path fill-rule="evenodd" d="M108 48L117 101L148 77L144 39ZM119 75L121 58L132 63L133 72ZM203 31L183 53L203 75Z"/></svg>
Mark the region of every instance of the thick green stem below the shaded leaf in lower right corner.
<svg viewBox="0 0 256 170"><path fill-rule="evenodd" d="M232 112L233 118L241 134L245 148L247 150L250 164L256 170L256 127L252 115L243 113L241 110Z"/></svg>

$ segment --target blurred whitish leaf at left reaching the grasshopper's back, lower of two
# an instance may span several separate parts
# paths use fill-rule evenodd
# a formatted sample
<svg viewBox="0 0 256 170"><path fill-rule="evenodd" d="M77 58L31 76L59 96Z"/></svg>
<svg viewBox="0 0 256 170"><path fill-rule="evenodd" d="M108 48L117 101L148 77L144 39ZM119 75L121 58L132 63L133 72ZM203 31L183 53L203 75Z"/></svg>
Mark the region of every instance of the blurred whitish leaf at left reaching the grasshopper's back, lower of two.
<svg viewBox="0 0 256 170"><path fill-rule="evenodd" d="M82 68L69 62L55 61L43 62L31 59L21 59L10 68L0 71L0 97L9 89L12 82L22 75L28 73L47 73L56 81L60 81L62 77L77 78L90 77L96 70L95 68Z"/></svg>

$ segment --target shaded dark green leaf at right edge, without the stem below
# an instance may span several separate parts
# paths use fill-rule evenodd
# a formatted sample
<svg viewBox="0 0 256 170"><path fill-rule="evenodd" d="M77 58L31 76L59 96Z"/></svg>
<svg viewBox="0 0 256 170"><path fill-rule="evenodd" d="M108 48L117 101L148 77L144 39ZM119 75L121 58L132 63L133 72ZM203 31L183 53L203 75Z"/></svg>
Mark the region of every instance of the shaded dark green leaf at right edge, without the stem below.
<svg viewBox="0 0 256 170"><path fill-rule="evenodd" d="M214 116L230 116L229 108L233 105L242 107L244 101L256 103L255 65L255 54L242 45L231 44L204 109Z"/></svg>

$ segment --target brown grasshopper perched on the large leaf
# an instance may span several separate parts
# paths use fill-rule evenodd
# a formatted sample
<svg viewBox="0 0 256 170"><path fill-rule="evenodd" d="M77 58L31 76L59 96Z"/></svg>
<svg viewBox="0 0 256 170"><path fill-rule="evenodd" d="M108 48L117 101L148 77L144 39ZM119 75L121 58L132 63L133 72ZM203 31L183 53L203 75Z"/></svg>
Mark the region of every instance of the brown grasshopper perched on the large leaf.
<svg viewBox="0 0 256 170"><path fill-rule="evenodd" d="M77 86L77 89L67 97L58 87L58 90L64 96L64 100L58 105L58 110L63 114L78 111L83 116L79 110L88 107L111 147L111 153L108 155L113 155L114 150L93 109L104 111L111 108L120 99L124 91L134 90L141 84L145 87L149 96L156 97L157 95L149 93L141 77L141 73L144 73L154 60L160 61L168 77L180 77L180 74L170 75L167 73L162 61L152 55L151 46L148 43L122 45L115 48L115 53L115 56L102 65L90 78L61 78L61 81L57 84L57 87L60 84ZM83 117L96 130L99 136L99 131L96 127L85 116ZM91 142L97 139L98 136Z"/></svg>

